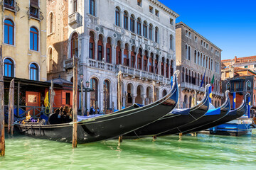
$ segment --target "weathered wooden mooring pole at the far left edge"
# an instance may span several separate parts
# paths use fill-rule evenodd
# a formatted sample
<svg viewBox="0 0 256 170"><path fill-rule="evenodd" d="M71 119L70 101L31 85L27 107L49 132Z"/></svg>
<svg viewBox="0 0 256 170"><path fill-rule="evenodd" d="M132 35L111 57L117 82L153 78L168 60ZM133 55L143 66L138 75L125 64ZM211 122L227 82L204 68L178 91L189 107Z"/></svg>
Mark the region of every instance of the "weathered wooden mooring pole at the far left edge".
<svg viewBox="0 0 256 170"><path fill-rule="evenodd" d="M3 59L2 46L0 46L0 156L5 155L4 140L4 75L3 75Z"/></svg>

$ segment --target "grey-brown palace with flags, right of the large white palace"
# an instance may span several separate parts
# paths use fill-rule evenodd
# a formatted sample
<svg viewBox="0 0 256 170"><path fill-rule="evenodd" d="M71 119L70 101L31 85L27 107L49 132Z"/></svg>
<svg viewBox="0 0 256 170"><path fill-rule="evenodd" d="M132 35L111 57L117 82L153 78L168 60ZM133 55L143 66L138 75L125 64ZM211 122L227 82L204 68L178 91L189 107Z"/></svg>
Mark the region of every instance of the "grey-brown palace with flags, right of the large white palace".
<svg viewBox="0 0 256 170"><path fill-rule="evenodd" d="M176 67L181 71L178 79L179 84L181 84L181 108L191 108L192 101L201 101L204 87L206 84L210 84L213 75L212 103L213 106L220 107L223 98L223 93L220 91L220 61L221 50L219 47L185 23L176 24ZM201 87L204 74L205 79ZM196 98L194 98L195 94Z"/></svg>

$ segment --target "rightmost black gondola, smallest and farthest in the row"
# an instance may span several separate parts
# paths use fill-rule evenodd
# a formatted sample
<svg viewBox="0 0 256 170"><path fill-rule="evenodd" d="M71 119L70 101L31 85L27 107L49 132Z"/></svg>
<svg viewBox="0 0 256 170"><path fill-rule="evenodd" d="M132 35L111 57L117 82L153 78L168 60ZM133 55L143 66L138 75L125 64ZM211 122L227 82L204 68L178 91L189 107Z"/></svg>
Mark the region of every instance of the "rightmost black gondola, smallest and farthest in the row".
<svg viewBox="0 0 256 170"><path fill-rule="evenodd" d="M245 100L242 101L242 104L239 106L239 108L236 108L232 111L230 111L225 117L221 118L218 121L215 121L214 123L210 123L210 128L222 125L223 123L228 123L231 120L235 120L237 118L240 118L242 115L244 115L247 111L247 106L245 103ZM214 134L214 132L210 132L211 134Z"/></svg>

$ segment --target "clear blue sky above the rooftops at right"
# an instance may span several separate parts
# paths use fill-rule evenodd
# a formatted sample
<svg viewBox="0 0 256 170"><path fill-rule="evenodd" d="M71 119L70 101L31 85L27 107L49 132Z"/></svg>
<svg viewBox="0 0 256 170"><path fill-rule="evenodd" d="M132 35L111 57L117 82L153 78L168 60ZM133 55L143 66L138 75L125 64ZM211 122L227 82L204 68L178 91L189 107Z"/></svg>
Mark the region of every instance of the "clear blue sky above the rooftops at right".
<svg viewBox="0 0 256 170"><path fill-rule="evenodd" d="M220 47L222 60L256 55L256 0L159 0L193 30Z"/></svg>

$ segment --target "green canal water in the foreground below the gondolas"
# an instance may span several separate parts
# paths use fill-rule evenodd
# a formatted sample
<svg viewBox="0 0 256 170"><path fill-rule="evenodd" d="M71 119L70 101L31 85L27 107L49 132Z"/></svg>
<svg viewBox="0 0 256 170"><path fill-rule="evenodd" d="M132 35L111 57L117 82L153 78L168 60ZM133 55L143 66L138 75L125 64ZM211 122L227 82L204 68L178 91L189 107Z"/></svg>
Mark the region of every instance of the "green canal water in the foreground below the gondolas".
<svg viewBox="0 0 256 170"><path fill-rule="evenodd" d="M0 169L256 169L256 130L228 137L176 135L71 144L6 137Z"/></svg>

